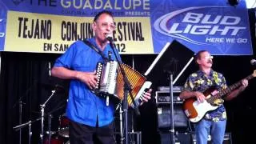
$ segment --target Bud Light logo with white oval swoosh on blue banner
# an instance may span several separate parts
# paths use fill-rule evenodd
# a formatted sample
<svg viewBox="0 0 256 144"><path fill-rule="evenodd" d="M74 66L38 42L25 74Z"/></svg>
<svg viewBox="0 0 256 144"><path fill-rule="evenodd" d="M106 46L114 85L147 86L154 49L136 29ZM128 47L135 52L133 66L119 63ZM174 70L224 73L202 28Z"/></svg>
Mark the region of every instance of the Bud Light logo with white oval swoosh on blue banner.
<svg viewBox="0 0 256 144"><path fill-rule="evenodd" d="M225 38L236 38L246 33L245 22L237 15L221 14L224 6L198 6L175 10L154 22L154 29L172 38L196 45L215 45ZM207 10L207 11L206 11Z"/></svg>

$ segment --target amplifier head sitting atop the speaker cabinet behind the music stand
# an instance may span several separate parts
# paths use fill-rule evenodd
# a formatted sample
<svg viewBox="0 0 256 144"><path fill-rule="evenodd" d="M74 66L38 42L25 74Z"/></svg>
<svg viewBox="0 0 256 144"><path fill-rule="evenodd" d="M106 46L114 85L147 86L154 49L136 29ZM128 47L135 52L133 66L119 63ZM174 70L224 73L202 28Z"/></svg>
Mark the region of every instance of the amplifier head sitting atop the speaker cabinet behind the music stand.
<svg viewBox="0 0 256 144"><path fill-rule="evenodd" d="M173 101L174 103L182 103L181 98L178 97L180 91L174 91ZM170 104L170 92L169 91L156 91L155 99L157 104Z"/></svg>

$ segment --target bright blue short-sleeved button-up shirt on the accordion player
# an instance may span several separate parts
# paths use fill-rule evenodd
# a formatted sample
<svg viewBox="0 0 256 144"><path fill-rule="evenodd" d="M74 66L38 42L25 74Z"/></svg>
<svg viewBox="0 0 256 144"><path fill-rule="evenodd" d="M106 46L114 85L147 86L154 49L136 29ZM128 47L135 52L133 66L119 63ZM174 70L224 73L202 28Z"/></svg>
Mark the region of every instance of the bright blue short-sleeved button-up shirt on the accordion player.
<svg viewBox="0 0 256 144"><path fill-rule="evenodd" d="M97 47L94 38L90 38L89 41ZM112 52L111 59L116 60L109 44L102 53L108 58L109 51ZM116 53L118 54L117 51ZM118 59L121 60L119 54ZM98 62L103 62L102 56L84 42L78 41L74 42L66 50L66 53L56 60L54 66L65 67L70 70L94 72ZM87 126L96 126L98 118L98 126L106 126L114 120L114 105L110 102L110 105L106 106L106 98L92 93L84 82L78 79L71 79L66 115L72 121Z"/></svg>

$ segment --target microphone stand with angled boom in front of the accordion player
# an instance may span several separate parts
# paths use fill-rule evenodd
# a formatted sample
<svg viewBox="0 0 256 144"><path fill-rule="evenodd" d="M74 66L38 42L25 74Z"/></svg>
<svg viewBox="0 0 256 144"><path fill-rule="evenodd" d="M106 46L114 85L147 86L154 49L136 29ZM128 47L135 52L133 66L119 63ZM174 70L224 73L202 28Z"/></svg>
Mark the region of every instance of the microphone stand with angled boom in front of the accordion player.
<svg viewBox="0 0 256 144"><path fill-rule="evenodd" d="M130 82L128 80L128 78L126 77L126 73L125 71L123 70L122 66L121 66L121 62L118 60L118 56L117 54L115 53L115 50L114 50L114 44L113 44L113 40L109 40L110 41L110 47L112 48L113 52L114 52L114 55L115 55L115 58L117 59L118 61L118 66L120 68L120 71L121 71L121 74L122 74L122 78L123 78L123 81L124 81L124 98L123 98L123 103L122 103L122 106L123 106L123 113L125 115L125 118L124 118L124 122L125 122L125 144L128 144L128 102L127 102L127 97L128 97L128 93L131 91L131 86L130 86ZM131 94L131 93L130 93ZM131 98L134 102L134 99L131 95ZM138 111L138 107L136 106L136 102L134 102L134 108L136 110L136 112L139 114L139 111Z"/></svg>

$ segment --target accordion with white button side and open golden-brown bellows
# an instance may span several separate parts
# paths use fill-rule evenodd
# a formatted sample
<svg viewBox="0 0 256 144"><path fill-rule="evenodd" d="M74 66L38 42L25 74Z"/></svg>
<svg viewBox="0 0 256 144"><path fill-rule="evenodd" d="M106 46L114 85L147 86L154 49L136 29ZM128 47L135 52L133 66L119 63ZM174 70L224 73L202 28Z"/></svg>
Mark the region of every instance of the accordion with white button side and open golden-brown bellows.
<svg viewBox="0 0 256 144"><path fill-rule="evenodd" d="M139 106L142 102L142 94L144 90L150 88L151 82L146 81L146 78L138 73L138 71L132 69L126 64L121 64L122 69L126 73L126 77L130 82L131 95L134 98L136 106ZM110 61L103 64L98 62L96 67L97 74L97 86L94 89L94 93L103 96L114 96L123 100L124 98L124 81L121 70L118 66L118 62ZM127 102L128 106L134 107L130 93L128 94Z"/></svg>

